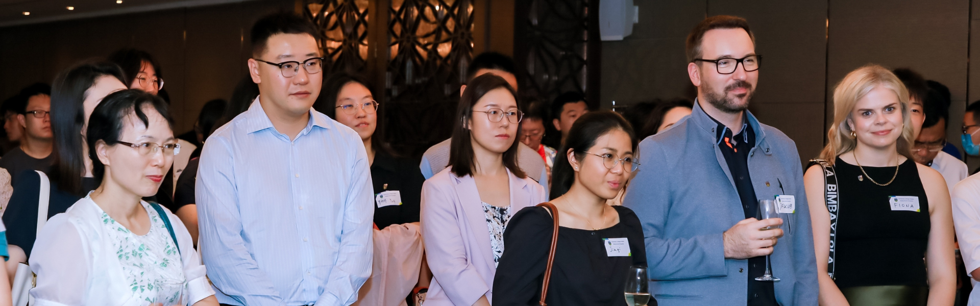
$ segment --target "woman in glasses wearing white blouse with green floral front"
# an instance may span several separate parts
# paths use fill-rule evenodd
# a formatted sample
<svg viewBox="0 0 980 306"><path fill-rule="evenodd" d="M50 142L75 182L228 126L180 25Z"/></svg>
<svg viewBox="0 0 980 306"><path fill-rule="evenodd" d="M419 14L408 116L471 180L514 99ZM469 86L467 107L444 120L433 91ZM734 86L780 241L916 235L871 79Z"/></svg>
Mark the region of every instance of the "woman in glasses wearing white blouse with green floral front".
<svg viewBox="0 0 980 306"><path fill-rule="evenodd" d="M183 223L141 200L157 193L180 149L166 102L138 89L112 93L93 111L86 140L102 183L38 235L35 304L170 306L182 291L186 305L217 306Z"/></svg>

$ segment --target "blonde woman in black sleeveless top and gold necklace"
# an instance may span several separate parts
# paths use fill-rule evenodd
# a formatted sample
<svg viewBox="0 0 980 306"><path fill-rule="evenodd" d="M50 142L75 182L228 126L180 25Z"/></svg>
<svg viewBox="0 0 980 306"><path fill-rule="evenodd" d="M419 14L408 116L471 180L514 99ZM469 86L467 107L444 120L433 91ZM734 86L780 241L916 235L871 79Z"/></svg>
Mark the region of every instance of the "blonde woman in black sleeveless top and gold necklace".
<svg viewBox="0 0 980 306"><path fill-rule="evenodd" d="M825 165L804 176L820 305L952 305L950 194L910 158L905 85L881 66L851 72L834 89L827 137Z"/></svg>

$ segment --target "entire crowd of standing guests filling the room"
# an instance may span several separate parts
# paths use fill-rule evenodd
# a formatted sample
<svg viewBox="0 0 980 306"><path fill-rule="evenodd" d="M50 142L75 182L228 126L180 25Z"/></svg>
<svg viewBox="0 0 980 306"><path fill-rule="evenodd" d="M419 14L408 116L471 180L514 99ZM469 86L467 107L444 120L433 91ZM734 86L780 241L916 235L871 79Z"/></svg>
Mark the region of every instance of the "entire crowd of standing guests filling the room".
<svg viewBox="0 0 980 306"><path fill-rule="evenodd" d="M484 53L419 161L317 37L258 21L249 76L184 134L140 50L4 101L0 306L980 305L957 293L980 280L980 175L946 139L949 89L913 71L841 79L804 167L748 110L744 19L692 29L696 99L625 114L527 96Z"/></svg>

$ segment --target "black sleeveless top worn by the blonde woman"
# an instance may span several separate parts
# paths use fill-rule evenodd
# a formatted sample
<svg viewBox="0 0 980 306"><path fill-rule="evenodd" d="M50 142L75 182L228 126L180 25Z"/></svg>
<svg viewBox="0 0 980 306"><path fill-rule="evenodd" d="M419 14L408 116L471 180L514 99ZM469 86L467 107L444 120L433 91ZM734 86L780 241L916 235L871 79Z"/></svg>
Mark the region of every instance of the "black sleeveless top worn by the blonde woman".
<svg viewBox="0 0 980 306"><path fill-rule="evenodd" d="M864 167L840 157L834 163L839 188L837 223L838 287L864 285L926 286L925 251L929 242L929 200L915 162L895 167ZM863 180L858 179L863 178ZM893 210L892 196L918 197L919 211Z"/></svg>

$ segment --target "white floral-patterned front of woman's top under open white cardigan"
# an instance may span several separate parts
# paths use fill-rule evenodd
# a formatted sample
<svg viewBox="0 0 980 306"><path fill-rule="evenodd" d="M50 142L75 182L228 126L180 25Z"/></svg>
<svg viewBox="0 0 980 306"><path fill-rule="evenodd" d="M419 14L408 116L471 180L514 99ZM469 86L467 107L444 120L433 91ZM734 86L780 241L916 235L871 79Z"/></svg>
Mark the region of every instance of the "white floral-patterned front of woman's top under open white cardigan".
<svg viewBox="0 0 980 306"><path fill-rule="evenodd" d="M116 255L133 296L138 298L139 305L149 305L157 302L160 293L165 293L159 292L160 289L176 290L156 287L157 280L184 280L184 275L180 252L174 247L167 226L149 204L141 204L150 216L150 230L144 235L132 233L104 211L101 218L103 226L109 229L106 232L117 249Z"/></svg>

